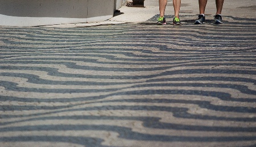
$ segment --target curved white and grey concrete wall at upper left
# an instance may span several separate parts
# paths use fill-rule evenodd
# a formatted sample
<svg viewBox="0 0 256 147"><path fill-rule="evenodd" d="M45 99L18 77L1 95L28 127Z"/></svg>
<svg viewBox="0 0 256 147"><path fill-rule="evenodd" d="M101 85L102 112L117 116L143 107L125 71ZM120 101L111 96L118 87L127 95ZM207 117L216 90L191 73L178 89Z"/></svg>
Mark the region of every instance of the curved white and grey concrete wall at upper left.
<svg viewBox="0 0 256 147"><path fill-rule="evenodd" d="M30 27L104 21L113 17L115 2L116 0L0 0L0 25Z"/></svg>

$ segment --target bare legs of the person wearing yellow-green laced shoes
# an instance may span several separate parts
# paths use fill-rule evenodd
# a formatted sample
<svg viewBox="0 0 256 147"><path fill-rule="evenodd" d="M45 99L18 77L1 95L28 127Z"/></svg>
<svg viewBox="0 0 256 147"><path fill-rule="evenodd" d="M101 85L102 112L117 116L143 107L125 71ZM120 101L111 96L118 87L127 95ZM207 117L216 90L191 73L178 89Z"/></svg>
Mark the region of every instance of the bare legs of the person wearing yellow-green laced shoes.
<svg viewBox="0 0 256 147"><path fill-rule="evenodd" d="M181 0L173 0L173 3L174 3L174 14L175 16L177 16L177 18L179 18ZM164 16L164 12L166 11L166 5L167 5L167 0L159 0L160 17Z"/></svg>

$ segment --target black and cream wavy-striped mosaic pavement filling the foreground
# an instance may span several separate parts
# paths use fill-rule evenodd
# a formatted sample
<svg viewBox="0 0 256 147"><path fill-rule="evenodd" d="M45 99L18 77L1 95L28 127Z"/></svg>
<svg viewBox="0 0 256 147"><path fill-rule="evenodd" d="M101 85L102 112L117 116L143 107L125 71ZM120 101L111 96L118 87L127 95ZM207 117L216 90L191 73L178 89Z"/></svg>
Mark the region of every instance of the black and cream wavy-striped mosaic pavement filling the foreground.
<svg viewBox="0 0 256 147"><path fill-rule="evenodd" d="M256 145L256 21L229 20L1 27L0 146Z"/></svg>

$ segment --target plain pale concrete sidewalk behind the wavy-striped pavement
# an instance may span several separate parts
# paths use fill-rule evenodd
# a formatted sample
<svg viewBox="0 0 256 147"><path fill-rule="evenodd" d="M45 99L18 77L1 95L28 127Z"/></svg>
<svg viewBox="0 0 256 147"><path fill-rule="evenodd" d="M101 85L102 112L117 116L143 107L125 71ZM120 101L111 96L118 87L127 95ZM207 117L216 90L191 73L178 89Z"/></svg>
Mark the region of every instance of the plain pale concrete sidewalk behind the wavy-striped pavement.
<svg viewBox="0 0 256 147"><path fill-rule="evenodd" d="M131 1L131 0L128 0ZM48 25L45 27L90 27L95 25L106 24L121 24L121 23L142 23L145 21L156 21L154 16L159 14L158 0L144 1L144 7L121 7L119 13L115 13L112 19L101 21L97 23L79 23L79 24L62 24L62 25ZM216 13L215 1L208 1L205 14L206 19L213 19ZM181 1L180 19L181 21L194 21L199 14L199 4L193 0ZM256 1L252 0L225 0L222 8L223 19L225 16L234 16L238 18L256 18ZM166 7L166 15L174 15L174 7L172 1L168 1ZM172 18L167 18L167 23L172 21ZM186 23L186 22L185 22ZM183 24L185 24L183 23Z"/></svg>

